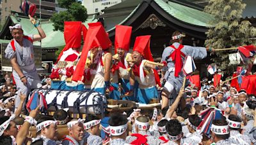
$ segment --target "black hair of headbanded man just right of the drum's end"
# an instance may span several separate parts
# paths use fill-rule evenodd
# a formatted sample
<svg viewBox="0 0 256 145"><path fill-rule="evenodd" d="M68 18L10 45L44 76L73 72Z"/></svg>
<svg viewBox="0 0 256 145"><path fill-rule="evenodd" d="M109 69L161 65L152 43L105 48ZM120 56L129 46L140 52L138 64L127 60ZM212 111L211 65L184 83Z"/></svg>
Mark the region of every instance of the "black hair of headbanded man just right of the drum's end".
<svg viewBox="0 0 256 145"><path fill-rule="evenodd" d="M110 116L108 123L110 126L120 126L120 125L125 125L127 123L127 117L123 114L113 114Z"/></svg>

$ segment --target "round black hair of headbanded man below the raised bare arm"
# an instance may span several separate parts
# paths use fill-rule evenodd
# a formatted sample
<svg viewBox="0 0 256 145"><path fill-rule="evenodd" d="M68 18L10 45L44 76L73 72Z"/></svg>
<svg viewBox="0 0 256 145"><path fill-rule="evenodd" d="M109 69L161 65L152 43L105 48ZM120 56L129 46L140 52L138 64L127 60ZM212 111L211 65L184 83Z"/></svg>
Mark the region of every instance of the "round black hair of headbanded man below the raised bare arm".
<svg viewBox="0 0 256 145"><path fill-rule="evenodd" d="M166 131L172 136L177 136L182 133L182 125L178 120L170 120L166 125Z"/></svg>

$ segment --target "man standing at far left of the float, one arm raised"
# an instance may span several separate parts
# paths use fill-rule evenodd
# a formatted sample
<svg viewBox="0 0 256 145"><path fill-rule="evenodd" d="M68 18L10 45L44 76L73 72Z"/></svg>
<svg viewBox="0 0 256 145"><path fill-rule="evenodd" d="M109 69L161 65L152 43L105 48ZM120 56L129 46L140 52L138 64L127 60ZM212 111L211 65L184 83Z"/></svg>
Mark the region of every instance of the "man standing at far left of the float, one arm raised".
<svg viewBox="0 0 256 145"><path fill-rule="evenodd" d="M36 72L35 55L33 50L33 41L40 41L45 38L42 28L36 24L34 18L29 17L31 23L35 26L39 34L25 36L22 26L15 24L10 26L10 32L13 40L8 44L4 51L6 59L9 59L13 67L13 78L19 92L28 95L31 88L40 88L42 86L40 78ZM15 108L20 104L19 97L16 98Z"/></svg>

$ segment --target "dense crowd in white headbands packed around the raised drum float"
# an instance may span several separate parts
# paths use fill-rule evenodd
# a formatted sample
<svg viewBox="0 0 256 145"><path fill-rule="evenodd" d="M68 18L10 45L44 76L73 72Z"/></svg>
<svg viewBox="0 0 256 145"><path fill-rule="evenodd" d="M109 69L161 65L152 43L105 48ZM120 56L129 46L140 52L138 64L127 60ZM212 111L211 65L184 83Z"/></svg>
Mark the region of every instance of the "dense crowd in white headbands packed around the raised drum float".
<svg viewBox="0 0 256 145"><path fill-rule="evenodd" d="M51 79L42 76L44 86ZM162 109L133 109L72 118L66 109L53 116L38 106L24 112L26 95L4 75L0 92L0 144L256 144L255 95L228 83L202 80L188 86ZM14 109L15 97L20 104Z"/></svg>

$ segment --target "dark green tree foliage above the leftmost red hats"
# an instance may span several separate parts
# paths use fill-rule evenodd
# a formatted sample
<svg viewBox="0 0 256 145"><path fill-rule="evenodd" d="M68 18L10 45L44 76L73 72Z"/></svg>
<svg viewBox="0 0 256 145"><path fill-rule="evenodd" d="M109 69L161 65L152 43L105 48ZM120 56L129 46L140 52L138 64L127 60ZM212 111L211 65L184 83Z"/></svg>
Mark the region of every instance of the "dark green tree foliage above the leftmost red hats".
<svg viewBox="0 0 256 145"><path fill-rule="evenodd" d="M60 11L60 13L52 15L51 21L53 22L54 31L64 31L65 21L84 22L88 17L86 8L81 3L76 2L76 0L58 0L59 4L60 2L63 8L67 8L67 11Z"/></svg>

